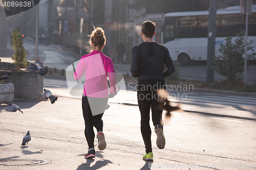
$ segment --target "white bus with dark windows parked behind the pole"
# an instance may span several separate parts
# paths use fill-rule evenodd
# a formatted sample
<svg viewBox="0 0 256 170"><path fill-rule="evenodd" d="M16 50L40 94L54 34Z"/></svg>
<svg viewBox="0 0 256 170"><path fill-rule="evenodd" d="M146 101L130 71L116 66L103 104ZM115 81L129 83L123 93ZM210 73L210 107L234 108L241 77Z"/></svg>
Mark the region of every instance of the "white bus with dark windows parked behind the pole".
<svg viewBox="0 0 256 170"><path fill-rule="evenodd" d="M189 65L191 60L207 60L209 11L172 12L164 14L162 44L165 45L174 61ZM240 6L217 10L215 55L220 53L229 35L234 41L241 30L245 30L245 15L240 14ZM256 51L256 5L252 5L252 15L248 19L248 42Z"/></svg>

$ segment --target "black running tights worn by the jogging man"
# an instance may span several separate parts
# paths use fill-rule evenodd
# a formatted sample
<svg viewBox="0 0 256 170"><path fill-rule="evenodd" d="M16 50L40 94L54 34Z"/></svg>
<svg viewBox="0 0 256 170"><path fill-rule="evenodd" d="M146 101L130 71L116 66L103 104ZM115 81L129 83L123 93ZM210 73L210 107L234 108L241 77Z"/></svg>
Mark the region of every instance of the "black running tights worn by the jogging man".
<svg viewBox="0 0 256 170"><path fill-rule="evenodd" d="M138 83L137 98L141 115L140 130L146 153L152 152L150 109L154 126L160 125L163 128L163 110L157 108L161 103L159 103L156 92L157 89L164 88L164 86L164 81L162 80L144 80Z"/></svg>

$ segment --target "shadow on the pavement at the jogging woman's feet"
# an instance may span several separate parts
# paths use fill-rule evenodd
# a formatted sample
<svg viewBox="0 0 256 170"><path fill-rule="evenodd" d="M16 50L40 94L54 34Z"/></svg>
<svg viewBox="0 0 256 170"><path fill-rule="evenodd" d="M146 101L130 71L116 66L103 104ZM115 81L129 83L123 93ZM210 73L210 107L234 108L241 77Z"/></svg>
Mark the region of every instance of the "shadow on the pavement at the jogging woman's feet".
<svg viewBox="0 0 256 170"><path fill-rule="evenodd" d="M76 170L83 170L83 169L99 169L108 163L112 163L110 160L102 159L95 162L94 165L90 166L92 162L94 162L94 159L86 159L87 164L81 164L77 167Z"/></svg>

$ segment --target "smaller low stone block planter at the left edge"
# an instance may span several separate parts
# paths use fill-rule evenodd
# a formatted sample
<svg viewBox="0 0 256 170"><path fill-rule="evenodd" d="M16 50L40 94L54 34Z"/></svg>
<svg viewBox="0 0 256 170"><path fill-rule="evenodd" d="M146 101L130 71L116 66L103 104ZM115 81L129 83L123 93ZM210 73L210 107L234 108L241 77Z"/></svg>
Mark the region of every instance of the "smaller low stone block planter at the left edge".
<svg viewBox="0 0 256 170"><path fill-rule="evenodd" d="M11 103L14 100L14 86L12 83L0 84L0 104Z"/></svg>

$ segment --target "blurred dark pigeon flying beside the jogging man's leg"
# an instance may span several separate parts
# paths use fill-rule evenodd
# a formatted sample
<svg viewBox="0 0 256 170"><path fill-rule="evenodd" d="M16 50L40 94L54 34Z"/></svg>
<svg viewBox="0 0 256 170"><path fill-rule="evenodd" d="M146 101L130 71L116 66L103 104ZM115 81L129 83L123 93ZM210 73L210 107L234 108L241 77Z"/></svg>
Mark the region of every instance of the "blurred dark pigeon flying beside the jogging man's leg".
<svg viewBox="0 0 256 170"><path fill-rule="evenodd" d="M158 99L160 100L158 109L163 109L163 110L167 111L165 114L166 117L172 116L172 114L170 112L180 109L179 106L170 105L170 101L167 99L168 93L166 92L166 90L160 89L157 91L157 93L158 93L158 97L159 97ZM161 95L161 99L160 99L160 95ZM163 103L164 103L164 105L163 105Z"/></svg>

